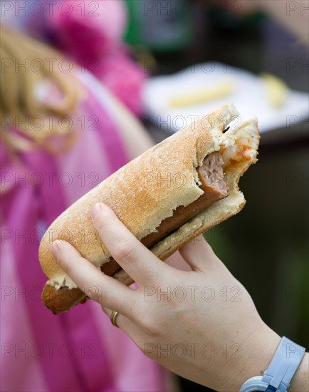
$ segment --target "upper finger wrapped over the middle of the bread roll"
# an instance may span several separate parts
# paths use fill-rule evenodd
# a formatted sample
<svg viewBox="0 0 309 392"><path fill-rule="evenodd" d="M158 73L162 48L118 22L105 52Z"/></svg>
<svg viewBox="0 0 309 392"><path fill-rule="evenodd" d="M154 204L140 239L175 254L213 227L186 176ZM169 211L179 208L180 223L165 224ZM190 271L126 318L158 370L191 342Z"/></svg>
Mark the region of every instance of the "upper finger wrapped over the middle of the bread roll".
<svg viewBox="0 0 309 392"><path fill-rule="evenodd" d="M137 284L150 284L169 273L171 267L138 241L107 205L95 205L93 224L112 257Z"/></svg>

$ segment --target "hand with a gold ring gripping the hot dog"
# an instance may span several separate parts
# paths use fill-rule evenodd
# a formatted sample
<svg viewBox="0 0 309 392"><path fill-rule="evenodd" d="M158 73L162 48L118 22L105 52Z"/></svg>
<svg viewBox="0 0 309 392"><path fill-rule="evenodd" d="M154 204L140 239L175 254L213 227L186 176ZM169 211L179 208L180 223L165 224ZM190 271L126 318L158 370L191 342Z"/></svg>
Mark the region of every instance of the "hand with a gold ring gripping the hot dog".
<svg viewBox="0 0 309 392"><path fill-rule="evenodd" d="M159 260L101 203L93 224L137 289L103 275L68 243L54 242L51 251L108 316L119 312L117 324L145 355L217 391L237 391L266 370L280 337L203 237L180 251L187 272Z"/></svg>

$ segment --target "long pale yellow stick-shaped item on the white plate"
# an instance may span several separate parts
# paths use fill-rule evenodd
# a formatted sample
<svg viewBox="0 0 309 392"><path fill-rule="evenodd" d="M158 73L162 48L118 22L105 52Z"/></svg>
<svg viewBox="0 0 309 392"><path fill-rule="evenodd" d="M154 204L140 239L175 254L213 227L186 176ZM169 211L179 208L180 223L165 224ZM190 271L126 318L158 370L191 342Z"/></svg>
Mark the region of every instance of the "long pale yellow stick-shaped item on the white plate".
<svg viewBox="0 0 309 392"><path fill-rule="evenodd" d="M233 93L234 88L234 81L220 81L219 83L212 84L209 88L203 88L191 93L182 93L172 97L169 100L169 107L179 108L184 106L193 106L208 102L209 100L224 98L225 96L229 96L229 94Z"/></svg>

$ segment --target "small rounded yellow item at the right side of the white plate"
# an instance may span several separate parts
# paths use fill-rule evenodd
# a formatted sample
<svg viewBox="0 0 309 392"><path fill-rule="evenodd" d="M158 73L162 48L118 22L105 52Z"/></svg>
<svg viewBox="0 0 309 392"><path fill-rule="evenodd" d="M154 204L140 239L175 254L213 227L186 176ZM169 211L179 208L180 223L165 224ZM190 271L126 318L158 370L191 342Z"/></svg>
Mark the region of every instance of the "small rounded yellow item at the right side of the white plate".
<svg viewBox="0 0 309 392"><path fill-rule="evenodd" d="M288 96L288 85L271 73L261 73L261 79L266 87L271 106L275 109L281 108Z"/></svg>

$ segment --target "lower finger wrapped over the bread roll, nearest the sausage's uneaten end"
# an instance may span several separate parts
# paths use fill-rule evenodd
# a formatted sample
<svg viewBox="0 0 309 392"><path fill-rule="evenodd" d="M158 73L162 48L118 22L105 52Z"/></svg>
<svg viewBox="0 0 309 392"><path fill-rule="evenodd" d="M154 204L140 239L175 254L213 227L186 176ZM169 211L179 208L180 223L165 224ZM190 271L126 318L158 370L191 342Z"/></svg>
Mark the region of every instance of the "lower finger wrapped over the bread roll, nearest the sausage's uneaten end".
<svg viewBox="0 0 309 392"><path fill-rule="evenodd" d="M130 314L135 303L133 290L100 272L68 242L53 242L51 252L61 268L91 299L122 314Z"/></svg>

